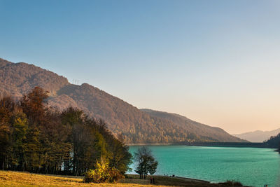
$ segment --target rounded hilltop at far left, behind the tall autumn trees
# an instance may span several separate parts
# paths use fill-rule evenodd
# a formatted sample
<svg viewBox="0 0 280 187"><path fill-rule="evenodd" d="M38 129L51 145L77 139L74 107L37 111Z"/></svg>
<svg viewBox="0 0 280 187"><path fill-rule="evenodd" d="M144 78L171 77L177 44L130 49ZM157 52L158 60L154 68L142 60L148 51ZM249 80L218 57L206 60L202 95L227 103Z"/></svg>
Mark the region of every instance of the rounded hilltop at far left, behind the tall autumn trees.
<svg viewBox="0 0 280 187"><path fill-rule="evenodd" d="M57 90L68 85L67 78L24 62L12 63L0 58L0 97L22 97L36 85L55 95Z"/></svg>

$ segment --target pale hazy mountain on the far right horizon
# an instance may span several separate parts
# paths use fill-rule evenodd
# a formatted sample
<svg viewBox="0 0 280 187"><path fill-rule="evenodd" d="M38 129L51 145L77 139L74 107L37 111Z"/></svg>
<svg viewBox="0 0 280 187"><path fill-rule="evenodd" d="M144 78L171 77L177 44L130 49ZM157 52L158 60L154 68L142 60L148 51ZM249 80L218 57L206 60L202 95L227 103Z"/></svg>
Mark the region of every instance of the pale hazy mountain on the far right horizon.
<svg viewBox="0 0 280 187"><path fill-rule="evenodd" d="M280 133L280 128L276 130L270 131L262 131L262 130L255 130L254 132L245 132L242 134L232 134L235 137L239 137L241 139L246 139L251 142L262 142L266 141L272 136L276 136Z"/></svg>

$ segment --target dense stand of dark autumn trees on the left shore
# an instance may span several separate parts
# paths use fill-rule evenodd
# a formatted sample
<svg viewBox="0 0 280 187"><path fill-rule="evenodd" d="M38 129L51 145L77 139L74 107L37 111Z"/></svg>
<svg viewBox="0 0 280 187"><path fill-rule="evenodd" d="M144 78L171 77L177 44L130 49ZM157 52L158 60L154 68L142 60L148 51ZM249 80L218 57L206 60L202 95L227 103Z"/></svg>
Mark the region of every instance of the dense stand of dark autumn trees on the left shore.
<svg viewBox="0 0 280 187"><path fill-rule="evenodd" d="M81 175L97 160L124 174L131 163L122 136L79 109L48 107L48 92L34 88L20 102L0 100L0 169Z"/></svg>

